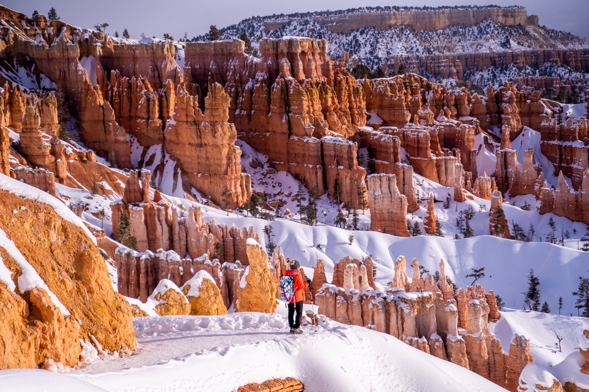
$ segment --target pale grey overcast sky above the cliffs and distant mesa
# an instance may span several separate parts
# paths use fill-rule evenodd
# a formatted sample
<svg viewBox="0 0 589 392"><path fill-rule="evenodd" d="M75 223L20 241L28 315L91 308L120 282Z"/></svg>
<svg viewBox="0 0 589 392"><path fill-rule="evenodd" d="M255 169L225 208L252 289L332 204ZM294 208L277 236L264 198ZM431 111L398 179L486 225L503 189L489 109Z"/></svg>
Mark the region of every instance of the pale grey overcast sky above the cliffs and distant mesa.
<svg viewBox="0 0 589 392"><path fill-rule="evenodd" d="M210 25L218 28L235 24L250 16L291 14L293 12L346 9L358 6L385 5L468 5L497 4L520 5L528 15L540 17L540 25L572 32L589 38L589 0L2 0L2 5L31 15L34 10L47 15L53 6L61 20L71 25L91 28L97 23L108 23L108 33L123 32L127 28L131 38L160 37L164 32L174 38L188 38L209 31Z"/></svg>

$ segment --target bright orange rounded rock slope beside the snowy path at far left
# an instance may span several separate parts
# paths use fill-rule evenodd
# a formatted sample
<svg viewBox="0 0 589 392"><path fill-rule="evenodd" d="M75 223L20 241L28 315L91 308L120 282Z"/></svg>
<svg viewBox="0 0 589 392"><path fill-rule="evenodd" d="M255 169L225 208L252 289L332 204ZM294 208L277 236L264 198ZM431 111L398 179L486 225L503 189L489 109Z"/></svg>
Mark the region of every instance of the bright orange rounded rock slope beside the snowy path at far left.
<svg viewBox="0 0 589 392"><path fill-rule="evenodd" d="M3 188L27 186L2 177ZM0 233L14 242L0 247L1 266L14 276L14 282L0 283L0 368L38 367L46 360L74 366L79 339L95 339L108 351L134 350L131 309L112 290L98 247L69 221L73 213L64 219L54 207L6 190L0 200ZM35 274L46 286L29 287L24 277Z"/></svg>

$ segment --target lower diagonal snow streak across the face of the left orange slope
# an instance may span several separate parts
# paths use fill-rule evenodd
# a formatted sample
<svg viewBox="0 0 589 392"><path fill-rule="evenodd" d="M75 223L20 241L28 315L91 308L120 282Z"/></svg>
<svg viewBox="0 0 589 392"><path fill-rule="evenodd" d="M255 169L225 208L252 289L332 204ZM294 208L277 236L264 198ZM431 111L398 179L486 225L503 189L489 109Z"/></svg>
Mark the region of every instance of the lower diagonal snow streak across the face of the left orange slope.
<svg viewBox="0 0 589 392"><path fill-rule="evenodd" d="M27 262L25 257L22 256L21 251L18 250L14 242L6 236L6 233L2 229L0 229L0 247L3 247L6 250L6 252L8 252L10 257L12 257L12 259L14 259L14 261L19 265L19 267L21 267L22 273L18 277L18 289L21 293L36 288L44 289L49 294L49 297L51 298L51 301L54 303L54 305L57 306L59 310L61 310L61 313L64 316L70 315L70 312L65 308L61 301L59 301L57 296L55 296L55 294L52 293L51 290L49 290L49 287L47 287L47 284L45 284L43 279L41 279L41 276L39 276L34 267L31 266L29 262ZM0 262L1 261L2 260L0 260ZM4 266L4 263L2 263L2 265ZM2 273L1 277L4 281L4 279L6 278L6 272L0 269L0 273ZM8 276L8 279L11 279L11 276ZM15 289L14 283L12 284L12 286L8 285L8 287L11 287L11 290L13 291Z"/></svg>

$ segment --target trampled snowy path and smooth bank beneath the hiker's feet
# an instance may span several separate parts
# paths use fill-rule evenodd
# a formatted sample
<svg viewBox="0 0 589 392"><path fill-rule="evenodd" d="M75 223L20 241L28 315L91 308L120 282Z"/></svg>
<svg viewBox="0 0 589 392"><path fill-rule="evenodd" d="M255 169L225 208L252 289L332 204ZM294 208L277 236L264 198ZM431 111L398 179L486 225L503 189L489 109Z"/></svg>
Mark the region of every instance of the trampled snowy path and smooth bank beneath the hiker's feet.
<svg viewBox="0 0 589 392"><path fill-rule="evenodd" d="M280 314L147 317L134 325L143 345L137 354L70 377L111 392L231 391L274 377L297 378L309 392L503 390L395 337L330 320L299 336Z"/></svg>

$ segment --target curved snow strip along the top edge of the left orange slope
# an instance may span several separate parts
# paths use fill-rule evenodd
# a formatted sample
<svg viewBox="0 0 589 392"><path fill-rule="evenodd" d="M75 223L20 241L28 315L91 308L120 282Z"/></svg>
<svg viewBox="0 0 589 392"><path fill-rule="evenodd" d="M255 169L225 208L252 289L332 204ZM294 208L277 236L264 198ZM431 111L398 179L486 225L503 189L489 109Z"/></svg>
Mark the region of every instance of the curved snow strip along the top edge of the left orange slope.
<svg viewBox="0 0 589 392"><path fill-rule="evenodd" d="M96 243L96 238L90 233L88 227L86 227L84 223L82 223L82 220L66 207L61 200L55 199L55 197L35 188L34 186L19 182L8 176L0 176L0 189L12 193L12 195L21 196L27 200L35 200L39 203L44 203L53 207L57 215L80 227L88 237L90 237L92 242Z"/></svg>

